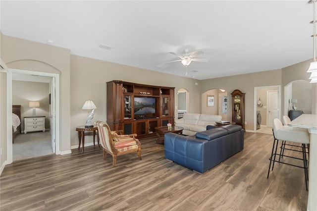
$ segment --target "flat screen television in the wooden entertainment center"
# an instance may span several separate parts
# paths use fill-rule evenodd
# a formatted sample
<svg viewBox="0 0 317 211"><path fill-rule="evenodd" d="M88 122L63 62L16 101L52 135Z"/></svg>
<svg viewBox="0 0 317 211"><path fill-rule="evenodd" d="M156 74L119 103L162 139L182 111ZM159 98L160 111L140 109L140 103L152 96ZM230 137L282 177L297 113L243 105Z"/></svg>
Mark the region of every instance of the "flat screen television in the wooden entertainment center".
<svg viewBox="0 0 317 211"><path fill-rule="evenodd" d="M134 115L153 114L155 113L155 105L155 98L135 97Z"/></svg>

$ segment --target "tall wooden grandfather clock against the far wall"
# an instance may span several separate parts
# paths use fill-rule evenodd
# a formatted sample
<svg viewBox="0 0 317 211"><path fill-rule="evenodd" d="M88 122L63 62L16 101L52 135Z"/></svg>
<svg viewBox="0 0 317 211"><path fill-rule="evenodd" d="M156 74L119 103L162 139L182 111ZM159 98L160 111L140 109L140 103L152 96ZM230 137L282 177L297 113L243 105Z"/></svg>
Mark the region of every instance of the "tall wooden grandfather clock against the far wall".
<svg viewBox="0 0 317 211"><path fill-rule="evenodd" d="M240 90L234 90L231 93L232 96L232 121L237 125L241 125L243 129L244 127L244 95Z"/></svg>

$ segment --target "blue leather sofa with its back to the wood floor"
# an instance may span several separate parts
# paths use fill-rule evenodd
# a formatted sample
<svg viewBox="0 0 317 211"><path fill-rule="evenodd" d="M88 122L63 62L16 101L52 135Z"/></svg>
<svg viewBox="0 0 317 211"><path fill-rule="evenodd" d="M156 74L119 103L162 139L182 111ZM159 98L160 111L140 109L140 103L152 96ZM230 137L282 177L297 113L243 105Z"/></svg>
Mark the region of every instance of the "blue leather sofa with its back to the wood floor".
<svg viewBox="0 0 317 211"><path fill-rule="evenodd" d="M240 125L209 128L194 136L166 133L165 158L204 173L243 150L244 130Z"/></svg>

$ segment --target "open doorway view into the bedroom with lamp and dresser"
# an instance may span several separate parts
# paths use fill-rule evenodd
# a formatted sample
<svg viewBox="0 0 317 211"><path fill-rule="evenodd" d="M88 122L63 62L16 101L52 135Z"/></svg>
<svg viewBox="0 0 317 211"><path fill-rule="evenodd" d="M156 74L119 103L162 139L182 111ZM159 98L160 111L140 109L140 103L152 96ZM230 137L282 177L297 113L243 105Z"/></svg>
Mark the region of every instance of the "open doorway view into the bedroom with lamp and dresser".
<svg viewBox="0 0 317 211"><path fill-rule="evenodd" d="M13 161L53 154L49 99L51 81L52 77L25 77L25 74L12 73L12 105L20 106L21 113L21 133L16 134L12 141Z"/></svg>

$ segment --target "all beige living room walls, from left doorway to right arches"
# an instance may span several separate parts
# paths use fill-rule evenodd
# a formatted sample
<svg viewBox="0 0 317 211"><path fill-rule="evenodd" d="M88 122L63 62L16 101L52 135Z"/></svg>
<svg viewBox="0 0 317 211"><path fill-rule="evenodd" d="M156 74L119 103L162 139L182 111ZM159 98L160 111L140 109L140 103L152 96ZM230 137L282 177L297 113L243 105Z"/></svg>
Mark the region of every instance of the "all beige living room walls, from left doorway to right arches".
<svg viewBox="0 0 317 211"><path fill-rule="evenodd" d="M309 64L308 61L305 61L283 69L198 81L71 55L68 49L4 35L1 36L0 51L2 60L9 68L52 72L60 75L61 151L67 151L71 146L75 147L78 145L75 128L83 125L88 115L86 111L81 109L86 100L93 100L98 107L95 111L94 120L106 120L107 81L123 80L141 84L171 86L175 87L175 96L177 96L178 89L186 88L189 97L188 112L190 113L202 112L202 93L211 89L224 89L228 93L228 119L231 119L230 93L235 89L239 89L246 93L246 129L253 130L255 115L254 87L282 84L283 91L283 87L290 81L297 79L307 80L309 77L306 73ZM298 68L303 70L298 73ZM3 84L2 78L0 82ZM316 89L316 86L313 85L315 94ZM4 95L5 91L2 91L1 98ZM175 105L177 105L177 98L175 98ZM86 139L86 143L91 142L89 138ZM1 140L1 144L4 144L3 140Z"/></svg>

